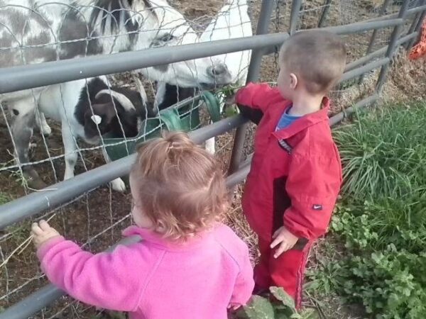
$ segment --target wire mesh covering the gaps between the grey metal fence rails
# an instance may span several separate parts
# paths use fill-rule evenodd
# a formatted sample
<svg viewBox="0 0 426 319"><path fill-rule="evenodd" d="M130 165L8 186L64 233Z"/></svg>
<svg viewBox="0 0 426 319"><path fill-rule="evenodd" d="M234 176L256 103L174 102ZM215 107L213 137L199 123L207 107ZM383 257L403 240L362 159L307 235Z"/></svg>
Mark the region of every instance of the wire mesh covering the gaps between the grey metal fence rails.
<svg viewBox="0 0 426 319"><path fill-rule="evenodd" d="M382 10L384 2L302 1L296 28L342 26L398 13L400 1L387 1L390 3ZM409 8L420 2L410 0ZM260 7L261 1L246 0L0 0L0 67L250 36ZM290 1L276 1L271 33L290 30L291 11ZM410 29L413 17L410 19L403 35ZM378 30L371 47L373 31L344 35L349 62L388 45L392 30ZM74 171L87 172L125 156L132 152L136 138L141 141L163 129L193 130L217 121L218 116L224 116L221 106L229 87L244 84L249 60L250 52L236 52L1 94L0 204L72 177ZM263 57L261 80L275 81L278 70L276 53ZM334 111L371 93L376 75L367 74L363 82L356 79L339 86L333 92L338 106ZM203 96L205 91L215 95ZM99 92L102 94L97 96ZM178 106L170 111L175 103ZM108 125L104 127L104 123ZM28 126L34 133L28 132ZM247 154L251 152L251 136ZM224 169L231 142L230 134L216 140L215 150ZM16 152L19 147L21 157ZM75 155L77 163L73 162ZM123 185L93 189L43 216L0 230L0 309L47 283L28 235L31 222L48 219L87 250L105 250L119 240L121 229L131 224L131 195L116 191L123 191ZM63 297L34 318L102 316L96 309Z"/></svg>

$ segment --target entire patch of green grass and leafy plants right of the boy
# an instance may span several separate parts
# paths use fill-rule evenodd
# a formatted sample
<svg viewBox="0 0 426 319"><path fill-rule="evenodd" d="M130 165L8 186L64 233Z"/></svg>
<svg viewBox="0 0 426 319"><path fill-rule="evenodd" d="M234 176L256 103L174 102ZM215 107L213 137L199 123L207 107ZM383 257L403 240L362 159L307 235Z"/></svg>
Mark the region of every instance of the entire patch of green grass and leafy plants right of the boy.
<svg viewBox="0 0 426 319"><path fill-rule="evenodd" d="M334 131L344 187L330 228L345 252L308 276L371 318L425 318L425 121L424 103L388 106Z"/></svg>

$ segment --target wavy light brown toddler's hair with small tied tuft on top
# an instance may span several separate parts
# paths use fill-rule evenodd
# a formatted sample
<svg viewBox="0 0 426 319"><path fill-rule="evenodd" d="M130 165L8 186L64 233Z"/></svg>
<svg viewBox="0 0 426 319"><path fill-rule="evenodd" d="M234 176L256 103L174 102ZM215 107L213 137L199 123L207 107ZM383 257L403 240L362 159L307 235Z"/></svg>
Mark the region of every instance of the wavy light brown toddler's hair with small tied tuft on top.
<svg viewBox="0 0 426 319"><path fill-rule="evenodd" d="M140 147L131 178L143 213L173 240L209 228L228 206L222 170L186 133L165 133Z"/></svg>

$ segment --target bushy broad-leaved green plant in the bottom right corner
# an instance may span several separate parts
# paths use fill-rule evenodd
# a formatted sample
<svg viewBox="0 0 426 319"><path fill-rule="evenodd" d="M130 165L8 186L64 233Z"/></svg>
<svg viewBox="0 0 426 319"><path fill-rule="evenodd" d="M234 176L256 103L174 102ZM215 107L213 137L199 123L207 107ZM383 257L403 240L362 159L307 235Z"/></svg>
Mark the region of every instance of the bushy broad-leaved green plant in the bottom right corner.
<svg viewBox="0 0 426 319"><path fill-rule="evenodd" d="M426 254L420 256L389 245L382 252L349 257L350 272L337 287L349 301L361 302L375 318L424 318Z"/></svg>

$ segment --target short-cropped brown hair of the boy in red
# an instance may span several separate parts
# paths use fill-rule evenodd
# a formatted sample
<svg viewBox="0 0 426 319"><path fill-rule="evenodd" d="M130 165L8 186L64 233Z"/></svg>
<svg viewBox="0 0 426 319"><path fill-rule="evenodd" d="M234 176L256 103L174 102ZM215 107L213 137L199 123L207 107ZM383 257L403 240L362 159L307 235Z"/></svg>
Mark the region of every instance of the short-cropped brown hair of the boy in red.
<svg viewBox="0 0 426 319"><path fill-rule="evenodd" d="M325 94L342 77L346 49L338 35L324 30L304 30L281 47L280 63L296 74L311 94Z"/></svg>

